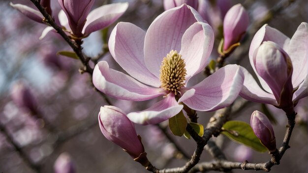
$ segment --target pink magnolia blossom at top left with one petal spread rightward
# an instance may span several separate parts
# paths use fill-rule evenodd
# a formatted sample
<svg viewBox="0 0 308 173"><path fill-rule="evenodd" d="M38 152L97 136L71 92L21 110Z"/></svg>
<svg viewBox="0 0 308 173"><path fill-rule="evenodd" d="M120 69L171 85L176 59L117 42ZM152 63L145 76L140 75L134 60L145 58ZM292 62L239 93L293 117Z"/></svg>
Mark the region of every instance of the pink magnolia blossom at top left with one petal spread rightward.
<svg viewBox="0 0 308 173"><path fill-rule="evenodd" d="M104 29L119 19L126 11L128 3L102 5L90 12L94 0L58 0L62 10L60 23L74 36L83 37L99 29ZM65 13L65 15L63 14Z"/></svg>

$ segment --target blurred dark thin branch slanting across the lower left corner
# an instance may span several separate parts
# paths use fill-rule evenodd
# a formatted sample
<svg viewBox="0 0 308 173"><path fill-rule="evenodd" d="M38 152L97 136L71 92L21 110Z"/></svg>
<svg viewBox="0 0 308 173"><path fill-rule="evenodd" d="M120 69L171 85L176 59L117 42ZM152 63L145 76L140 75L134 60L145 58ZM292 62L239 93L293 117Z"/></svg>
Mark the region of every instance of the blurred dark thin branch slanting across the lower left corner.
<svg viewBox="0 0 308 173"><path fill-rule="evenodd" d="M41 167L39 165L36 165L32 162L31 158L27 155L26 152L15 142L13 137L10 135L10 133L6 130L5 126L0 122L0 131L5 135L6 140L12 144L14 147L14 150L18 152L20 157L25 161L25 163L36 173L39 173L41 170Z"/></svg>

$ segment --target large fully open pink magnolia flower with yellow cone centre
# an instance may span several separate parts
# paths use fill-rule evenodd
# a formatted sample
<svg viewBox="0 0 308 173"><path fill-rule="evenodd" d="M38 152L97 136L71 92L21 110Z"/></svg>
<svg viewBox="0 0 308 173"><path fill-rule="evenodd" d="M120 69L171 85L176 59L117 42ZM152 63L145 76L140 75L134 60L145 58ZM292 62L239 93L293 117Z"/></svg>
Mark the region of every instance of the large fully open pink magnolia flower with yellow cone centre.
<svg viewBox="0 0 308 173"><path fill-rule="evenodd" d="M189 79L207 65L213 43L212 28L186 4L163 12L147 32L121 22L110 35L109 50L131 77L100 61L94 68L93 84L117 99L162 98L144 111L127 115L144 125L169 119L183 109L183 104L197 111L223 108L242 88L244 78L238 65L227 65L187 87Z"/></svg>

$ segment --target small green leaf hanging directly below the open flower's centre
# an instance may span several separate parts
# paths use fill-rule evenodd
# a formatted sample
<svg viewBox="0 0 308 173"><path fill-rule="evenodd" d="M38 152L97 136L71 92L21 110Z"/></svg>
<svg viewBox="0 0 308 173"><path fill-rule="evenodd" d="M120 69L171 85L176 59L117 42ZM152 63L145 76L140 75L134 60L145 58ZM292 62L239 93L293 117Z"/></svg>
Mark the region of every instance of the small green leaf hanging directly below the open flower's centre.
<svg viewBox="0 0 308 173"><path fill-rule="evenodd" d="M169 128L176 136L182 136L185 133L187 119L181 111L179 114L169 118Z"/></svg>

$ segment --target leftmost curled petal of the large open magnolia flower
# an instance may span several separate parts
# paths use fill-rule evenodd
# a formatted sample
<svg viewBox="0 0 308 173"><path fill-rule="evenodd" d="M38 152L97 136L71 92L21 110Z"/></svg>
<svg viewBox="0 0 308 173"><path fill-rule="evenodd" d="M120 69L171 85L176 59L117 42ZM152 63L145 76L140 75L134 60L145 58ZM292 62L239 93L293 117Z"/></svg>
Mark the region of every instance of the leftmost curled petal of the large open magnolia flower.
<svg viewBox="0 0 308 173"><path fill-rule="evenodd" d="M161 88L148 87L122 72L110 69L106 61L100 61L95 66L93 84L101 92L123 100L143 101L166 94Z"/></svg>

